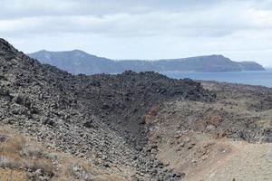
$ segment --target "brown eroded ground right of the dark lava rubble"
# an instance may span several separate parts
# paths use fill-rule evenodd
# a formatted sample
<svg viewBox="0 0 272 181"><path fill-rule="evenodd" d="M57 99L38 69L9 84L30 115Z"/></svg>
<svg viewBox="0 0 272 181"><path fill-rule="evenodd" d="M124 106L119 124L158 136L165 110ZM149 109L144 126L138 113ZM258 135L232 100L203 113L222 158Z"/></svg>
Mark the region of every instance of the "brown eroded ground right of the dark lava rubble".
<svg viewBox="0 0 272 181"><path fill-rule="evenodd" d="M271 180L271 90L203 85L217 101L171 101L147 115L157 157L184 180Z"/></svg>

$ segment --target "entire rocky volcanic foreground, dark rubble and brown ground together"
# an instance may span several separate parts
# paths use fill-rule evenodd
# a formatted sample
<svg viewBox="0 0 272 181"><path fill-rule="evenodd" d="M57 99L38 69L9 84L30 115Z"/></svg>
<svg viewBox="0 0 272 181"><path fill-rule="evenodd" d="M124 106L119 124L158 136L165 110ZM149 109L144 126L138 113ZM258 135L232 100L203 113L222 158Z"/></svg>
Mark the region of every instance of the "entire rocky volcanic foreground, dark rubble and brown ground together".
<svg viewBox="0 0 272 181"><path fill-rule="evenodd" d="M0 39L0 178L270 180L271 98L154 72L75 76Z"/></svg>

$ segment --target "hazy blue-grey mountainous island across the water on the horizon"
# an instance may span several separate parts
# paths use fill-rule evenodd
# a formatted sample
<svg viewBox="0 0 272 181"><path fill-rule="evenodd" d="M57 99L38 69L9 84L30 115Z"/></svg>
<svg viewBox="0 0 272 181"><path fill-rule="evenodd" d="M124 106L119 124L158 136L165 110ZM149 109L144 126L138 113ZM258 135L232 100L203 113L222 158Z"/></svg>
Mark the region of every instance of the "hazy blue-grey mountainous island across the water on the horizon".
<svg viewBox="0 0 272 181"><path fill-rule="evenodd" d="M120 73L122 71L265 71L257 62L234 62L223 55L165 60L121 60L98 57L80 50L68 52L39 51L28 54L39 62L51 64L73 74Z"/></svg>

